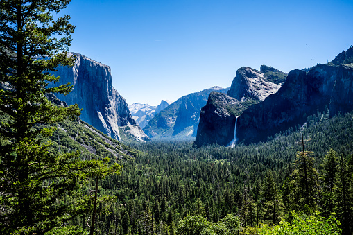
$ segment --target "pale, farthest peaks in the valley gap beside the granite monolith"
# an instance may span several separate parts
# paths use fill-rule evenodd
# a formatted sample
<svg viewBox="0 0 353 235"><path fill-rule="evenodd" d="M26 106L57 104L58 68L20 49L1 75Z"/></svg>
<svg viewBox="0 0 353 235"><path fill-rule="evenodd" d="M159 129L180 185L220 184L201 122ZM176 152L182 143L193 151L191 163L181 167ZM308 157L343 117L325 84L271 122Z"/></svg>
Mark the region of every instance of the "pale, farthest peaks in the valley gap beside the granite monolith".
<svg viewBox="0 0 353 235"><path fill-rule="evenodd" d="M161 112L166 107L171 104L171 101L164 101L162 100L160 105L158 106L151 106L148 104L140 104L140 103L133 103L129 105L129 110L132 115L132 118L136 121L136 123L141 127L144 128L150 119L153 119L155 114Z"/></svg>

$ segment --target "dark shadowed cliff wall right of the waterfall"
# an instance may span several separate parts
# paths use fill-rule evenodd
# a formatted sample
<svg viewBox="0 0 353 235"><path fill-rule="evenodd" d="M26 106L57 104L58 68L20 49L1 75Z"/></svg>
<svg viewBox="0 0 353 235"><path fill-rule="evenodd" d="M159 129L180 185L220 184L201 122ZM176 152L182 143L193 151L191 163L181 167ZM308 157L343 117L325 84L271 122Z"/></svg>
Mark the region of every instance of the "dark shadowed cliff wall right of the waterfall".
<svg viewBox="0 0 353 235"><path fill-rule="evenodd" d="M294 70L276 94L244 111L238 119L238 139L266 141L268 136L304 123L329 107L331 116L353 110L353 69L318 64L309 73Z"/></svg>

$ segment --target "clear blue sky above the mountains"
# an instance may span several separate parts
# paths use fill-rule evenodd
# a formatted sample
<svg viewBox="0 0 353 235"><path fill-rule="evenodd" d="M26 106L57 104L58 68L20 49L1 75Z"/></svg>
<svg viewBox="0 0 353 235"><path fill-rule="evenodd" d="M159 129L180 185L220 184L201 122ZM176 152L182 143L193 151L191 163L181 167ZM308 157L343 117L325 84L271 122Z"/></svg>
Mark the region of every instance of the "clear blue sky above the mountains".
<svg viewBox="0 0 353 235"><path fill-rule="evenodd" d="M353 44L353 0L71 0L70 51L107 64L128 104L230 87L240 67L289 72Z"/></svg>

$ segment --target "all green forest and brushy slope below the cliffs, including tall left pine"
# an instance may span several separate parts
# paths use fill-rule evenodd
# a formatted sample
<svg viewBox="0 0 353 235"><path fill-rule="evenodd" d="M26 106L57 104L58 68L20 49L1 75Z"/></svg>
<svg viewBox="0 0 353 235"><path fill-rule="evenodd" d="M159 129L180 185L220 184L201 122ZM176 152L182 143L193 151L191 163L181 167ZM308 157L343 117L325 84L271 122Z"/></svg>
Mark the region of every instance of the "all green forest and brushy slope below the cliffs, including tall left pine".
<svg viewBox="0 0 353 235"><path fill-rule="evenodd" d="M49 101L68 3L0 3L1 234L352 234L353 112L234 148L121 143Z"/></svg>

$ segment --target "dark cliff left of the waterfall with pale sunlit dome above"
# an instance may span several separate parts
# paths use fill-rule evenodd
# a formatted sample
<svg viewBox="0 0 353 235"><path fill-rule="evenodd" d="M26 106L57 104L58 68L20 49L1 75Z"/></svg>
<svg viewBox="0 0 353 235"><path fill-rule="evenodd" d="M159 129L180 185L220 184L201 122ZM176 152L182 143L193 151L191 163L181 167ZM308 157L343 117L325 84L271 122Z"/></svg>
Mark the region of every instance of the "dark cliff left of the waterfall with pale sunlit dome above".
<svg viewBox="0 0 353 235"><path fill-rule="evenodd" d="M238 69L227 95L212 92L202 108L196 146L212 143L227 146L234 139L236 116L275 94L284 80L286 73L265 65L260 71L249 67Z"/></svg>

